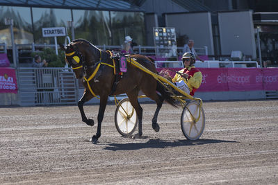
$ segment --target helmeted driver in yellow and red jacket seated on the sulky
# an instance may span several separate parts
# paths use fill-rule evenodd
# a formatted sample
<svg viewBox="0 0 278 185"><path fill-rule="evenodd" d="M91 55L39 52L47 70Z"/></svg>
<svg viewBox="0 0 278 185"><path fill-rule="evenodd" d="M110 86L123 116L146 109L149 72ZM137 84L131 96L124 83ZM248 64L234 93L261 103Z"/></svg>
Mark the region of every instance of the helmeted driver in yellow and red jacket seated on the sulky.
<svg viewBox="0 0 278 185"><path fill-rule="evenodd" d="M176 73L172 82L176 83L179 89L185 91L187 94L194 96L195 91L200 87L202 83L202 73L199 69L195 68L195 55L190 52L186 52L182 57L184 68ZM166 77L170 77L167 73Z"/></svg>

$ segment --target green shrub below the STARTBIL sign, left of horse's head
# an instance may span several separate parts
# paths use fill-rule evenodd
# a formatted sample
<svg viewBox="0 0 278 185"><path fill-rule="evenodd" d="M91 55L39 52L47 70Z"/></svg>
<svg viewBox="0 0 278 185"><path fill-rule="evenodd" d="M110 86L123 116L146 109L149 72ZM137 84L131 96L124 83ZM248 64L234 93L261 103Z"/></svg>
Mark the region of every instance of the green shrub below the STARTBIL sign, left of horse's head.
<svg viewBox="0 0 278 185"><path fill-rule="evenodd" d="M48 63L47 67L65 67L65 53L58 50L58 55L56 55L55 49L44 48L42 51L31 53L31 57L35 55L40 55L42 60L46 60Z"/></svg>

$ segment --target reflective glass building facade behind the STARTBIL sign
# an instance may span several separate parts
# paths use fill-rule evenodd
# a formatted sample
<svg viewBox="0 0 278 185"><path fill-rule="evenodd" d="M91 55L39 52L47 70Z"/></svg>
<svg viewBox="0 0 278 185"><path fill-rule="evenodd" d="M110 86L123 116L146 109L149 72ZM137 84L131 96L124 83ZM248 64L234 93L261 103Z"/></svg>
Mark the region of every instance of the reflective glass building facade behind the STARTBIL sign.
<svg viewBox="0 0 278 185"><path fill-rule="evenodd" d="M73 21L74 38L87 39L95 45L120 45L123 44L124 37L130 35L138 44L145 45L144 12L115 11L115 8L79 9L69 6L24 7L1 6L0 3L0 43L11 46L9 26L5 25L5 18L10 18L14 22L15 44L54 44L52 37L42 37L42 28L67 27L67 21ZM72 38L70 28L67 28L67 33ZM57 39L58 42L65 42L65 37Z"/></svg>

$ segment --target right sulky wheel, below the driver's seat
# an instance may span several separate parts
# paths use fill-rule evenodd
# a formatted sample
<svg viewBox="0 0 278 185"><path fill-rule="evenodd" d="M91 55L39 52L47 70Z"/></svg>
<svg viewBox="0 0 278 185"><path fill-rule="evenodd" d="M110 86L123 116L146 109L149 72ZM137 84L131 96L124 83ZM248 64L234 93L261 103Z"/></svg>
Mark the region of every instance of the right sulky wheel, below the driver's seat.
<svg viewBox="0 0 278 185"><path fill-rule="evenodd" d="M200 114L199 120L197 119ZM204 131L205 118L204 109L199 111L199 103L196 101L189 101L186 103L186 107L183 108L181 114L181 130L183 135L189 140L197 140Z"/></svg>

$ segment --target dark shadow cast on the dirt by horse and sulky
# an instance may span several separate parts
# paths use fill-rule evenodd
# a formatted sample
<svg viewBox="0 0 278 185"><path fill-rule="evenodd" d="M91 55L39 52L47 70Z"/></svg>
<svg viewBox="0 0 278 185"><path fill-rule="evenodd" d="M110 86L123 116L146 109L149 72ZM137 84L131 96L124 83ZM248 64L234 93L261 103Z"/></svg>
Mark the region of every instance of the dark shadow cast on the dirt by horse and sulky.
<svg viewBox="0 0 278 185"><path fill-rule="evenodd" d="M174 148L179 146L200 146L212 143L238 143L238 141L225 141L219 139L198 139L196 141L177 140L167 141L162 139L149 139L146 143L109 143L104 150L139 150L144 148Z"/></svg>

